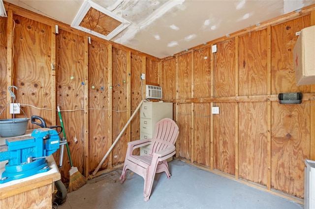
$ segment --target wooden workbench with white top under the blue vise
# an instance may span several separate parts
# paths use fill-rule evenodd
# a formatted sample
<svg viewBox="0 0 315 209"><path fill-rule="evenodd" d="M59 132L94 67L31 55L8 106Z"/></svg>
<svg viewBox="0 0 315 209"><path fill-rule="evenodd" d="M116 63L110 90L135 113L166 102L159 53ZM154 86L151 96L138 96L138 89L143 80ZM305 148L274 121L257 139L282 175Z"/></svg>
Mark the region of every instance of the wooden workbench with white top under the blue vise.
<svg viewBox="0 0 315 209"><path fill-rule="evenodd" d="M0 183L0 209L52 208L54 182L60 180L61 176L54 157L51 155L46 159L50 167L49 171ZM0 175L4 171L5 163L7 160L0 162Z"/></svg>

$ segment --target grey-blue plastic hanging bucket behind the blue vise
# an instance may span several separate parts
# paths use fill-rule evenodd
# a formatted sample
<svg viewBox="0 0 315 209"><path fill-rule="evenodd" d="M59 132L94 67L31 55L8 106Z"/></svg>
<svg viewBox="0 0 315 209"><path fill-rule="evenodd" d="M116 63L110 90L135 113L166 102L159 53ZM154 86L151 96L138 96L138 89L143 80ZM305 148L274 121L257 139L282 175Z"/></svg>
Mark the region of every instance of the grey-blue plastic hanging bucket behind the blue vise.
<svg viewBox="0 0 315 209"><path fill-rule="evenodd" d="M30 118L12 118L0 120L0 136L14 137L25 134Z"/></svg>

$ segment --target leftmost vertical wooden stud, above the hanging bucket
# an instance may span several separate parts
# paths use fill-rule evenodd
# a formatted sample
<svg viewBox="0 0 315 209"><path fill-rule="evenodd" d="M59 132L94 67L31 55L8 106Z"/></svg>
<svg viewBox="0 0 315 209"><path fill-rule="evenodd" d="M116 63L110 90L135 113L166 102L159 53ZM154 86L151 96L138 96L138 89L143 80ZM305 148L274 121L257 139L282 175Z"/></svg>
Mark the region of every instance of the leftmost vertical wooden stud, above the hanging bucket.
<svg viewBox="0 0 315 209"><path fill-rule="evenodd" d="M6 89L8 90L9 86L13 85L13 11L12 9L8 10L7 14L7 26L6 26ZM7 91L6 104L11 100L11 95ZM10 108L6 108L6 118L11 118Z"/></svg>

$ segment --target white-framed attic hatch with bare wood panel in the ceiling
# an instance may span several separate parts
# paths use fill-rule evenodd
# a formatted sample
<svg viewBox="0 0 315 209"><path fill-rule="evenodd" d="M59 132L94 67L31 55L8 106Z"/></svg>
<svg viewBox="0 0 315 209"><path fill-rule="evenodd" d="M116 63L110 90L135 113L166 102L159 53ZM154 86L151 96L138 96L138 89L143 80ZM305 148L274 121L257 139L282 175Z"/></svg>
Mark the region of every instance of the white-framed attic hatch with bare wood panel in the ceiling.
<svg viewBox="0 0 315 209"><path fill-rule="evenodd" d="M111 40L131 22L91 0L85 0L71 23L71 27Z"/></svg>

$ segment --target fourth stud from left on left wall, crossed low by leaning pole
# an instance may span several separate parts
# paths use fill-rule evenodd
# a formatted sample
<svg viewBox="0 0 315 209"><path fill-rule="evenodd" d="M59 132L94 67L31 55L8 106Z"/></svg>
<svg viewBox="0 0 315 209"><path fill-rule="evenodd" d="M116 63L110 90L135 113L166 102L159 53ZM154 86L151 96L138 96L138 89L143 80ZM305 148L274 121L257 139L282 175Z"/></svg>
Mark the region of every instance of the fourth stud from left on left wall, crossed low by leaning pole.
<svg viewBox="0 0 315 209"><path fill-rule="evenodd" d="M112 56L113 56L113 51L112 51L112 45L108 44L107 45L107 103L108 103L108 116L107 116L107 135L108 135L108 141L113 141L113 90L112 90L112 85L113 85L113 75L112 75ZM106 69L104 69L106 70ZM107 143L107 148L106 150L109 150L111 147L111 143ZM109 156L107 157L108 159L108 168L112 168L112 152L110 152Z"/></svg>

